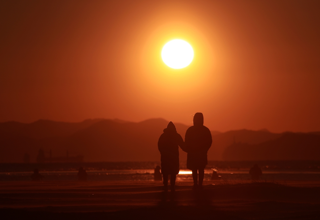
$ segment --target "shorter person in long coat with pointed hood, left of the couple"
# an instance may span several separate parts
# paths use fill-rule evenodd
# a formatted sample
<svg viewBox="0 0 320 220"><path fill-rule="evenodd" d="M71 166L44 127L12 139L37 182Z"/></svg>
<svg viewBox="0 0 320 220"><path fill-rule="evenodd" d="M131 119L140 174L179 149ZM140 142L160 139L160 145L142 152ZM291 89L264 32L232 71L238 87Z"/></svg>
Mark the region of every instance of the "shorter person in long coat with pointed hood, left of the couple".
<svg viewBox="0 0 320 220"><path fill-rule="evenodd" d="M161 154L161 173L163 175L164 189L168 189L168 175L171 175L171 190L174 190L176 175L179 173L179 146L184 147L184 142L176 127L169 122L167 128L158 141L158 149ZM179 145L179 146L178 146Z"/></svg>

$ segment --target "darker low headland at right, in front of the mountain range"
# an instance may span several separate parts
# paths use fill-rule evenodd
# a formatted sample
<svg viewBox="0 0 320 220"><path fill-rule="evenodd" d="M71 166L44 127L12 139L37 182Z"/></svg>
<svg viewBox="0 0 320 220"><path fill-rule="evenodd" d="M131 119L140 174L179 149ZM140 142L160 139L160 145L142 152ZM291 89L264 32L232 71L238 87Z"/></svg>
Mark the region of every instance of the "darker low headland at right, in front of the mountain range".
<svg viewBox="0 0 320 220"><path fill-rule="evenodd" d="M240 160L319 160L320 136L316 133L284 133L280 138L260 144L234 143L223 159Z"/></svg>

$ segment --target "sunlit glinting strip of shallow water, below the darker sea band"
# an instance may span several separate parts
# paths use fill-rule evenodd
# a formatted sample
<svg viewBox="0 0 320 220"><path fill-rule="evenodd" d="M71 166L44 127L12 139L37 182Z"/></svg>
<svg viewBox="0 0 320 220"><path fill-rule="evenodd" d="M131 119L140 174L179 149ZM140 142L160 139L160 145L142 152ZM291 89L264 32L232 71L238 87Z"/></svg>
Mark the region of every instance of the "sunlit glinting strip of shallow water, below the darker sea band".
<svg viewBox="0 0 320 220"><path fill-rule="evenodd" d="M87 170L88 181L154 181L153 169L129 169L129 170ZM1 181L28 181L33 172L1 172ZM77 171L40 171L44 176L43 181L76 181ZM237 182L250 181L249 170L218 170L221 181L233 180ZM204 181L210 181L212 169L205 169ZM284 181L284 180L309 180L320 181L319 171L288 171L276 170L265 171L262 180ZM177 182L192 181L190 170L180 170Z"/></svg>

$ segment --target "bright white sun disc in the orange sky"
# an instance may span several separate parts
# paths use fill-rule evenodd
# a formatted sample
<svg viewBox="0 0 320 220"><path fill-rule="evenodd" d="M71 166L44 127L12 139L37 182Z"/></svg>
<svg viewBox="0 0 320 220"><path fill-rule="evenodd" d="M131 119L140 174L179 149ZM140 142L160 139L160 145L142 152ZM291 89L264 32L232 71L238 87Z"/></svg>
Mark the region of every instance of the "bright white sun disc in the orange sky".
<svg viewBox="0 0 320 220"><path fill-rule="evenodd" d="M162 60L168 67L173 69L187 67L192 62L193 56L191 45L180 39L169 41L161 51Z"/></svg>

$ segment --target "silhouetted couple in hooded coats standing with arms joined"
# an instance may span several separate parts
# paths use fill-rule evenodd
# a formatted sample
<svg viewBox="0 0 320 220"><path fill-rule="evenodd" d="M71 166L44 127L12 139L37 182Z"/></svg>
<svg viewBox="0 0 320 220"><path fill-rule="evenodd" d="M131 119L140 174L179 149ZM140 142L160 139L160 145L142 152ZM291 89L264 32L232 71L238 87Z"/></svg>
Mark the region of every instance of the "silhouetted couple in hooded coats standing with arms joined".
<svg viewBox="0 0 320 220"><path fill-rule="evenodd" d="M187 169L192 170L193 189L202 189L204 168L208 164L207 152L212 144L211 132L203 125L203 114L198 112L194 115L193 126L188 128L185 141L177 133L172 122L169 122L163 132L158 141L158 149L161 154L164 190L168 190L168 176L170 175L171 191L174 191L176 175L179 173L179 146L188 153Z"/></svg>

